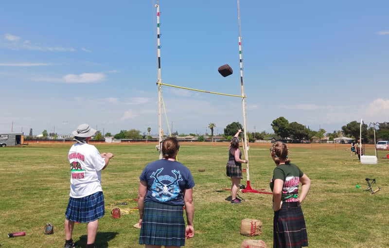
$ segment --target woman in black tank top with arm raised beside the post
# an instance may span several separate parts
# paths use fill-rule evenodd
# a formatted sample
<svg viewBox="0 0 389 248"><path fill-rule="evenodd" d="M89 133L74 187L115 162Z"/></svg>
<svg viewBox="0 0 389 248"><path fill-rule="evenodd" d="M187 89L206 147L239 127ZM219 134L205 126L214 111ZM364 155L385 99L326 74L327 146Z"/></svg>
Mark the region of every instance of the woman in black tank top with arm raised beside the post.
<svg viewBox="0 0 389 248"><path fill-rule="evenodd" d="M227 177L231 178L231 204L241 204L242 200L236 197L239 190L240 180L242 176L242 163L248 163L248 160L242 160L242 152L239 149L239 134L242 129L232 138L228 150L228 161L227 161Z"/></svg>

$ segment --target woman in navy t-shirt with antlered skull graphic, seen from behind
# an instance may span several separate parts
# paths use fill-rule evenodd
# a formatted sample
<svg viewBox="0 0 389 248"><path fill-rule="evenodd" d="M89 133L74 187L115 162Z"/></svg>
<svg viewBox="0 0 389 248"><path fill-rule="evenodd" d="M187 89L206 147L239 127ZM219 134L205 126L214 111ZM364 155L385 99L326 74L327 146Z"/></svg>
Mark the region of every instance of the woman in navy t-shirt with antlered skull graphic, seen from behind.
<svg viewBox="0 0 389 248"><path fill-rule="evenodd" d="M185 246L185 238L195 235L195 181L191 171L176 160L178 150L176 138L164 140L161 144L163 158L147 164L140 176L139 244L146 248L178 248Z"/></svg>

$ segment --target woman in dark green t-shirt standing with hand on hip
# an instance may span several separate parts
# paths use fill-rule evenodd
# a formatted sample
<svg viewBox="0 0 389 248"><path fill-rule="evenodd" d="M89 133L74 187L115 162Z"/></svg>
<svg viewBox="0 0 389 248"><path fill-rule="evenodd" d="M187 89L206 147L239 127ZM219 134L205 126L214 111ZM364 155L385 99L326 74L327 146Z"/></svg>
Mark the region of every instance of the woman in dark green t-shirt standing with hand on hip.
<svg viewBox="0 0 389 248"><path fill-rule="evenodd" d="M306 247L308 235L301 203L308 194L311 180L299 167L290 163L289 150L285 143L275 142L270 153L276 163L270 181L274 211L273 248Z"/></svg>

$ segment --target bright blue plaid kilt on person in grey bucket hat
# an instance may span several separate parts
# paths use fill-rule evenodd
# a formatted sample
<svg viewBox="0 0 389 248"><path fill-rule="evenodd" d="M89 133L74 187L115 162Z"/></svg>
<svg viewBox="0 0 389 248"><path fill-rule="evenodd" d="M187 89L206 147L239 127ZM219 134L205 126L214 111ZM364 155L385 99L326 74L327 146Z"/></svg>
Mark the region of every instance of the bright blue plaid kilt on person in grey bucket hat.
<svg viewBox="0 0 389 248"><path fill-rule="evenodd" d="M103 192L96 192L82 198L69 198L66 219L79 223L89 223L105 214Z"/></svg>

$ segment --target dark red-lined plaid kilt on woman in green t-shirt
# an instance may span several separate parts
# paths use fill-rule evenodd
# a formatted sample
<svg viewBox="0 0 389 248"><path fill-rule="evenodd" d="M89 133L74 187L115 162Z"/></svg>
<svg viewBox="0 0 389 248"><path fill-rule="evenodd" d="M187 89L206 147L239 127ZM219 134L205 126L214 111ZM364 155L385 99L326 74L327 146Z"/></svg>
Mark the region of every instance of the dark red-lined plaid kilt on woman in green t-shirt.
<svg viewBox="0 0 389 248"><path fill-rule="evenodd" d="M304 215L299 202L283 202L274 212L273 248L300 248L308 246Z"/></svg>

